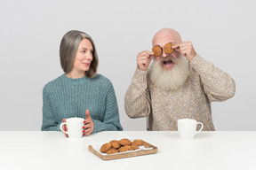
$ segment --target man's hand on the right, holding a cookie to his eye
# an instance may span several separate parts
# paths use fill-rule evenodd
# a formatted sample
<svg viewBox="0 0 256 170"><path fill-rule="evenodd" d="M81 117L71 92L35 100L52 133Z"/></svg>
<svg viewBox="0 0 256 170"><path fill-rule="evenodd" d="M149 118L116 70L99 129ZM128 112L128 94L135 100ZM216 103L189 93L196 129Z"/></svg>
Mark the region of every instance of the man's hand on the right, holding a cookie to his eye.
<svg viewBox="0 0 256 170"><path fill-rule="evenodd" d="M191 61L196 56L196 50L194 50L191 42L180 42L178 44L172 45L172 49L177 50L185 56L188 61Z"/></svg>

